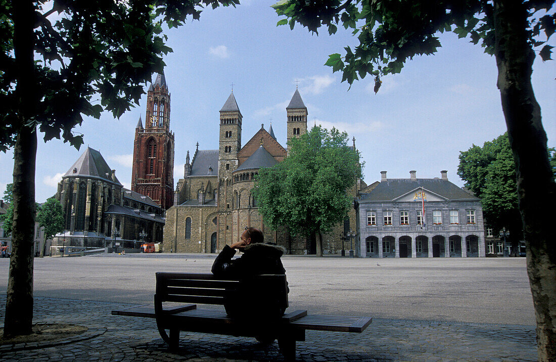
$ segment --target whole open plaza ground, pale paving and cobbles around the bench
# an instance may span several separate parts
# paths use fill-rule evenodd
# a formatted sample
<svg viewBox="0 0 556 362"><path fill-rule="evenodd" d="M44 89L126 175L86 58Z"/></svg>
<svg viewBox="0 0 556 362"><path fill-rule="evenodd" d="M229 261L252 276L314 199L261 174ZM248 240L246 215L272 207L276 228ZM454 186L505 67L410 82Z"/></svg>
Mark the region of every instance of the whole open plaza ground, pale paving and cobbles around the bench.
<svg viewBox="0 0 556 362"><path fill-rule="evenodd" d="M34 320L88 326L83 340L0 350L4 359L280 360L277 346L182 334L171 354L152 320L111 316L152 304L156 271L209 272L215 255L36 258ZM364 333L307 332L300 360L535 360L534 310L524 258L349 259L285 256L290 310L371 315ZM7 259L0 259L6 292ZM3 308L4 303L0 305ZM65 351L64 353L60 351ZM2 360L2 359L0 359Z"/></svg>

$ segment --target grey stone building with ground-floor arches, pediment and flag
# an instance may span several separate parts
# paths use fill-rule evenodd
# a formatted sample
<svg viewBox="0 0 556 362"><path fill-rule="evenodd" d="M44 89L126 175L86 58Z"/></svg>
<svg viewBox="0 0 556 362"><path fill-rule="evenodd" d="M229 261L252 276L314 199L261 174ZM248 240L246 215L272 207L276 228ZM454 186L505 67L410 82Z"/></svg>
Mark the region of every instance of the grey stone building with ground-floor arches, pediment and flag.
<svg viewBox="0 0 556 362"><path fill-rule="evenodd" d="M478 197L441 178L388 179L361 190L356 254L363 257L484 257ZM424 200L423 200L424 198ZM424 214L423 214L424 211ZM422 217L424 215L424 219Z"/></svg>

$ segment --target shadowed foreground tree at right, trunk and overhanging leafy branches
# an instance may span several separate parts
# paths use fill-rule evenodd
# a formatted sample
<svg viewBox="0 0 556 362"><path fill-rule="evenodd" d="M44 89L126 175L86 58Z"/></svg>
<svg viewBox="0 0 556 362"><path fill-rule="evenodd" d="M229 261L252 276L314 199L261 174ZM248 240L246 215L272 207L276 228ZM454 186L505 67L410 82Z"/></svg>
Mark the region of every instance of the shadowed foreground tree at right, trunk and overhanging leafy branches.
<svg viewBox="0 0 556 362"><path fill-rule="evenodd" d="M286 16L278 24L300 23L317 32L325 26L353 28L359 45L345 55L331 54L326 64L353 83L366 75L399 73L416 55L434 54L438 33L454 32L494 55L508 138L517 171L519 211L527 248L527 272L537 318L538 358L556 360L556 247L550 213L556 205L556 184L548 160L547 135L531 84L536 47L550 58L546 42L556 29L554 1L547 0L289 0L274 7ZM544 31L545 41L540 40Z"/></svg>

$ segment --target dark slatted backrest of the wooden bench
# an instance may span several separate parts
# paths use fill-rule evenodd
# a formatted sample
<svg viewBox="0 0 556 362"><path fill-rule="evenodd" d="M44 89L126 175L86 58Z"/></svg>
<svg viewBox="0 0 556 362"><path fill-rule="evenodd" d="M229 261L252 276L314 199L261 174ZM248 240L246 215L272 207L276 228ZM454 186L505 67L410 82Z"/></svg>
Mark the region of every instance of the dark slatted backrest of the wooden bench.
<svg viewBox="0 0 556 362"><path fill-rule="evenodd" d="M156 273L156 297L160 302L224 305L230 297L245 290L260 291L259 295L272 295L284 310L288 306L284 274L255 275L240 282L225 280L210 273Z"/></svg>

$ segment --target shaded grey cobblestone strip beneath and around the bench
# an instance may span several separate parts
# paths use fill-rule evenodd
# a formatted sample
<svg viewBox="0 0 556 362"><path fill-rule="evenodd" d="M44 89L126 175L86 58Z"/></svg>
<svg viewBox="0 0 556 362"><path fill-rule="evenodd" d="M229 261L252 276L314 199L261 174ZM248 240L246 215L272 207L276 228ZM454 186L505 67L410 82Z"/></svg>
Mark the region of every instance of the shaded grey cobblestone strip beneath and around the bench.
<svg viewBox="0 0 556 362"><path fill-rule="evenodd" d="M113 316L131 304L35 297L35 323L72 323L86 333L59 343L2 346L0 361L243 361L283 360L276 342L183 333L170 353L153 319ZM0 309L5 308L5 301ZM3 314L0 319L3 325ZM361 334L307 331L301 361L535 361L529 325L374 319Z"/></svg>

